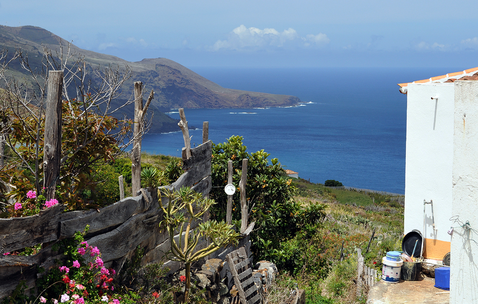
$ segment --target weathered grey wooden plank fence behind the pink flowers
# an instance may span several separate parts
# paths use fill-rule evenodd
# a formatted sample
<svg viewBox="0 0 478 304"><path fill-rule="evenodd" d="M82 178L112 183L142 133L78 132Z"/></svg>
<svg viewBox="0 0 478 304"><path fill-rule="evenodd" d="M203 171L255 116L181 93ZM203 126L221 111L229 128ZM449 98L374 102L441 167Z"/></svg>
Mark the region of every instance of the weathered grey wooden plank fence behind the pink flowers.
<svg viewBox="0 0 478 304"><path fill-rule="evenodd" d="M211 189L211 155L211 141L191 149L191 157L183 165L187 171L168 187L179 189L189 186L208 195ZM0 219L0 300L11 294L22 280L27 288L35 287L37 279L43 275L37 269L55 267L55 259L61 258L52 246L82 231L86 225L90 228L85 239L101 251L105 267L118 270L137 246L144 249L143 265L159 262L164 252L170 249L170 242L168 233L159 227L163 212L155 192L153 189L141 189L137 197L126 197L100 210L63 213L64 205L59 204L40 211L38 215ZM167 205L167 198L161 199ZM32 256L3 255L40 243L43 249ZM249 237L245 235L239 241L239 247L250 247L249 243ZM205 245L203 241L198 248ZM214 256L223 257L237 248L230 246L218 250ZM165 266L170 267L170 271L176 271L180 264L169 261Z"/></svg>

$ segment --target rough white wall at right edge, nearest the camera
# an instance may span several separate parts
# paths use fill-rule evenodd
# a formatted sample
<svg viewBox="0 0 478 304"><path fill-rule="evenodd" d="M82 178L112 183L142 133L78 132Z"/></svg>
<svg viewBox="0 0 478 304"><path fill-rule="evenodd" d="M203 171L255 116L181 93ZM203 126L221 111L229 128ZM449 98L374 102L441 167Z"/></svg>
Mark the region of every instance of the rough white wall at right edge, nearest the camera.
<svg viewBox="0 0 478 304"><path fill-rule="evenodd" d="M478 81L455 82L454 116L452 213L475 231L454 229L450 303L469 304L478 302Z"/></svg>

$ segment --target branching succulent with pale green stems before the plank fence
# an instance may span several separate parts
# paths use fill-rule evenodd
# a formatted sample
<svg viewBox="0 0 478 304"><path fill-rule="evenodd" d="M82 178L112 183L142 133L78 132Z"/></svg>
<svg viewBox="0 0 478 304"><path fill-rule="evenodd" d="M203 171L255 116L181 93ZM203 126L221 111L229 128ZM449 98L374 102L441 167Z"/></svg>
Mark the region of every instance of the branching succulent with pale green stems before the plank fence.
<svg viewBox="0 0 478 304"><path fill-rule="evenodd" d="M178 191L163 191L169 203L163 206L161 199L159 205L164 212L163 225L169 232L171 250L166 252L166 258L171 261L183 262L186 267L186 286L184 289L183 303L186 303L191 288L191 263L213 253L223 246L237 244L239 233L233 230L232 225L224 221L209 220L200 223L192 229L193 222L201 221L202 215L215 204L213 199L204 198L189 187L182 187ZM179 235L178 241L174 236ZM205 248L196 250L199 240L209 241Z"/></svg>

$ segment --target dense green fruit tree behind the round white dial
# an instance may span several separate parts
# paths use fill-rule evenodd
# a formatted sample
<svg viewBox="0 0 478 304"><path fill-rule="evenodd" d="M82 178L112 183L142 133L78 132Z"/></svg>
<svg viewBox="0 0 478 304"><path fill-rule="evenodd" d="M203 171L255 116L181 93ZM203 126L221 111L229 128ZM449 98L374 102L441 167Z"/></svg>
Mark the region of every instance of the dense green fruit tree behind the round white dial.
<svg viewBox="0 0 478 304"><path fill-rule="evenodd" d="M216 220L225 220L227 195L227 162L233 161L233 183L239 187L242 159L248 159L246 195L250 213L249 222L256 222L251 234L252 251L259 259L278 261L284 254L280 243L293 238L303 222L299 216L300 206L293 201L295 187L285 175L278 159L268 160L269 153L260 150L247 153L242 137L232 136L226 143L213 145L211 164L212 186L210 197L217 204L211 210ZM239 189L238 189L239 190ZM233 196L233 220L240 220L240 193Z"/></svg>

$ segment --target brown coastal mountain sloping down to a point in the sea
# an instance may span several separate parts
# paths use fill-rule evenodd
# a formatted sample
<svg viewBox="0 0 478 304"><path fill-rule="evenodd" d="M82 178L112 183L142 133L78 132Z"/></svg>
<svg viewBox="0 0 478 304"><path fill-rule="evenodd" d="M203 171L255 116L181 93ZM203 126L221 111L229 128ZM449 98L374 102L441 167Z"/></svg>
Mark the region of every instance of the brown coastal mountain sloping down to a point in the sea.
<svg viewBox="0 0 478 304"><path fill-rule="evenodd" d="M60 44L65 46L67 42L40 27L0 25L0 47L6 47L12 51L12 54L15 47L25 50L28 53L30 64L34 67L41 67L42 46L58 50ZM128 65L133 71L133 77L123 86L123 96L131 96L134 81L142 81L146 91L154 89L155 98L151 103L151 109L155 114L150 130L153 133L179 130L177 120L162 113L171 108L278 107L291 106L300 102L300 99L295 96L222 88L166 58L129 62L119 57L83 50L75 45L72 45L72 48L75 52L85 56L91 67L109 64ZM26 76L18 63L10 65L9 68L9 73L16 77ZM145 95L147 98L147 94ZM125 110L129 117L133 117L133 111L133 107Z"/></svg>

